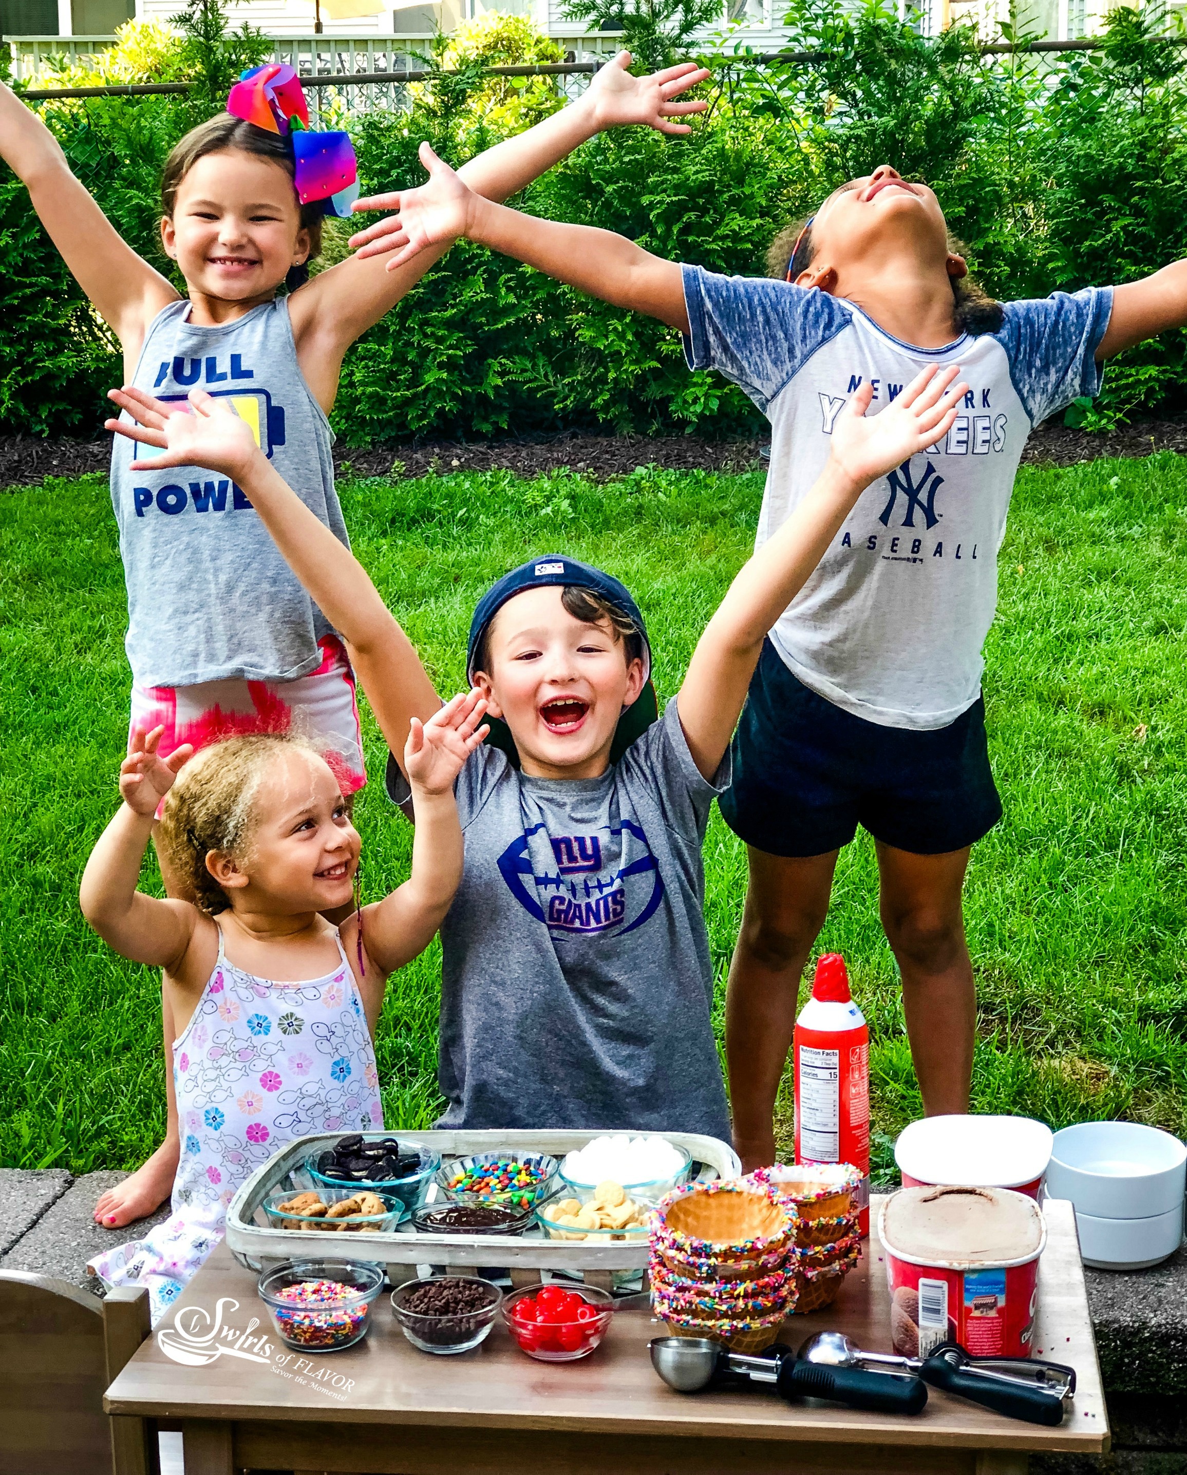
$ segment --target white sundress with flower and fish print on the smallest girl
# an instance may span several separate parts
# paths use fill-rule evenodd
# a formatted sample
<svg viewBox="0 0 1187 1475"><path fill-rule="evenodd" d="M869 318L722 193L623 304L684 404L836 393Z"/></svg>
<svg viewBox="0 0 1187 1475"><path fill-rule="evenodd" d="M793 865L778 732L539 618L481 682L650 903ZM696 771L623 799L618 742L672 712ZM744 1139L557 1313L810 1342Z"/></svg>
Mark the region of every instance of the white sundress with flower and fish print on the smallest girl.
<svg viewBox="0 0 1187 1475"><path fill-rule="evenodd" d="M336 935L336 934L335 934ZM181 1159L171 1215L87 1267L108 1286L146 1285L153 1326L223 1238L239 1186L293 1137L383 1127L379 1072L338 938L332 974L255 978L224 953L173 1046Z"/></svg>

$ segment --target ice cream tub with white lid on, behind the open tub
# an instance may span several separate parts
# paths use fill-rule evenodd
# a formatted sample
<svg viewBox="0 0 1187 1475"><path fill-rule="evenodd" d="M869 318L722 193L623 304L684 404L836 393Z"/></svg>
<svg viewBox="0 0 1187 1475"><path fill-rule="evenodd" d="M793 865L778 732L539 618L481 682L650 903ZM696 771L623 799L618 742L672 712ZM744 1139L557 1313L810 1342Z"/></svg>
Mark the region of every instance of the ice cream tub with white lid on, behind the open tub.
<svg viewBox="0 0 1187 1475"><path fill-rule="evenodd" d="M895 1143L902 1186L955 1183L1038 1198L1051 1128L1029 1117L925 1117Z"/></svg>

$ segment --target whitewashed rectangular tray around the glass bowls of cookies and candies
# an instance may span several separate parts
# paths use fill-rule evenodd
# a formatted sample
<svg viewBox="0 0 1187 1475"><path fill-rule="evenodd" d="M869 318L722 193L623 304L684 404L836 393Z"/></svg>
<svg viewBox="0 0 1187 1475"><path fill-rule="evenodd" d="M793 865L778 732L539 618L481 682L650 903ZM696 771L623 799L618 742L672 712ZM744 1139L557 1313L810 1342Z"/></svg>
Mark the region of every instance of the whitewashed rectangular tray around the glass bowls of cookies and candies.
<svg viewBox="0 0 1187 1475"><path fill-rule="evenodd" d="M264 1218L261 1205L274 1189L288 1186L313 1186L305 1180L302 1165L308 1156L333 1146L342 1133L320 1133L314 1137L299 1137L270 1158L239 1189L227 1208L227 1246L240 1266L248 1270L262 1270L280 1260L296 1260L330 1255L336 1260L366 1260L372 1264L386 1264L392 1285L417 1274L417 1266L448 1266L459 1274L473 1274L478 1266L507 1267L512 1283L528 1285L543 1279L544 1271L581 1271L590 1285L612 1289L621 1282L622 1271L646 1271L647 1242L616 1240L608 1245L591 1245L587 1240L559 1240L546 1238L538 1227L519 1238L504 1235L417 1235L411 1221L405 1220L395 1230L380 1230L377 1235L335 1235L330 1243L320 1243L308 1232L298 1229L273 1229L257 1221ZM423 1143L436 1148L441 1161L464 1158L470 1152L494 1152L503 1148L521 1152L547 1152L563 1158L574 1148L584 1148L605 1131L367 1131L367 1139L398 1136L400 1142ZM638 1133L622 1133L638 1136ZM733 1148L717 1137L702 1137L696 1133L664 1131L649 1136L665 1137L678 1148L686 1148L693 1158L693 1173L702 1180L733 1179L742 1173L742 1164ZM699 1165L699 1167L697 1167ZM295 1177L290 1177L295 1174ZM432 1192L432 1190L431 1190Z"/></svg>

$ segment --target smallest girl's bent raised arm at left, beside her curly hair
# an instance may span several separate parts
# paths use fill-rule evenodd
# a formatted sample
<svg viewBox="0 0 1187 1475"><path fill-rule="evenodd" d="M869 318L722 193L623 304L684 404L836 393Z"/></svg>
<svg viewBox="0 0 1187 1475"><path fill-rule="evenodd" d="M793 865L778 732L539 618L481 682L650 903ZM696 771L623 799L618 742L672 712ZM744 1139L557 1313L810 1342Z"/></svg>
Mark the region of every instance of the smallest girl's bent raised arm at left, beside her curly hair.
<svg viewBox="0 0 1187 1475"><path fill-rule="evenodd" d="M161 901L137 891L140 864L152 835L156 805L173 788L177 770L193 749L186 745L167 760L156 755L164 727L147 736L137 729L119 768L119 805L90 853L78 903L94 931L134 963L175 972L193 938L198 909L189 901Z"/></svg>

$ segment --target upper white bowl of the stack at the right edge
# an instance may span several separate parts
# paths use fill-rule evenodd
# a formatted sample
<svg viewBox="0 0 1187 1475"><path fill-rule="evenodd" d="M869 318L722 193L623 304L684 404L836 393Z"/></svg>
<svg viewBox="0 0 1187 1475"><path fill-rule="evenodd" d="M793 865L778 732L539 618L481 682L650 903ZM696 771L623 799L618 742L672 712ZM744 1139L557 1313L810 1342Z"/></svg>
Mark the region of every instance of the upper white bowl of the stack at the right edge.
<svg viewBox="0 0 1187 1475"><path fill-rule="evenodd" d="M1187 1148L1169 1131L1135 1121L1084 1121L1056 1133L1047 1193L1093 1218L1156 1218L1183 1212Z"/></svg>

